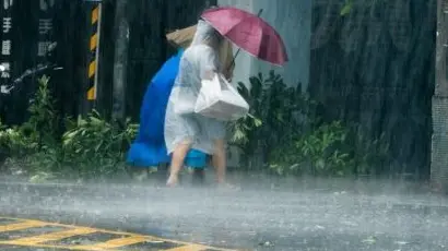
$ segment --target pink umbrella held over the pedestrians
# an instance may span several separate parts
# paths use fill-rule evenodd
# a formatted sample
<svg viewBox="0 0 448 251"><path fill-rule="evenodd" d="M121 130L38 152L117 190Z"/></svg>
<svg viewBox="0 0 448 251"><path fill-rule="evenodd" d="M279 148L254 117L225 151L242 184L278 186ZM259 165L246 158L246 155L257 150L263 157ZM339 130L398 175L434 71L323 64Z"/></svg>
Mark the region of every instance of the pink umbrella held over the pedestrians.
<svg viewBox="0 0 448 251"><path fill-rule="evenodd" d="M259 16L237 8L222 7L207 10L201 17L254 57L278 65L287 61L279 33Z"/></svg>

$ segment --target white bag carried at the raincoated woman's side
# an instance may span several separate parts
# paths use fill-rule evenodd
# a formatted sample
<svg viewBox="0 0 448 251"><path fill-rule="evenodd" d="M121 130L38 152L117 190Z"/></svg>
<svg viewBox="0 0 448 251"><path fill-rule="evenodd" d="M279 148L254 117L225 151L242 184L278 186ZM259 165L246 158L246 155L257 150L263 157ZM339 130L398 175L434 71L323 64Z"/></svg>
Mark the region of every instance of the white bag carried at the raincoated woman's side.
<svg viewBox="0 0 448 251"><path fill-rule="evenodd" d="M249 104L221 74L203 80L194 112L223 121L237 120L247 115Z"/></svg>

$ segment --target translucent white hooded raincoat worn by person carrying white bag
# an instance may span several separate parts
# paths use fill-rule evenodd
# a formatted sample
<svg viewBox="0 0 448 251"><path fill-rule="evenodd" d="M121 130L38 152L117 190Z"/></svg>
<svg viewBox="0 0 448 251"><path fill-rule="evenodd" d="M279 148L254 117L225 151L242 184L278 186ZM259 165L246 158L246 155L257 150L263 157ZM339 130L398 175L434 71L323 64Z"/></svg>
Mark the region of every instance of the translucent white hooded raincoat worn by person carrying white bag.
<svg viewBox="0 0 448 251"><path fill-rule="evenodd" d="M215 29L199 21L191 46L185 50L179 72L169 96L165 116L165 144L168 154L180 143L190 143L193 150L213 154L214 140L225 136L225 123L194 113L201 80L212 79L220 72L220 43ZM211 43L214 41L214 43Z"/></svg>

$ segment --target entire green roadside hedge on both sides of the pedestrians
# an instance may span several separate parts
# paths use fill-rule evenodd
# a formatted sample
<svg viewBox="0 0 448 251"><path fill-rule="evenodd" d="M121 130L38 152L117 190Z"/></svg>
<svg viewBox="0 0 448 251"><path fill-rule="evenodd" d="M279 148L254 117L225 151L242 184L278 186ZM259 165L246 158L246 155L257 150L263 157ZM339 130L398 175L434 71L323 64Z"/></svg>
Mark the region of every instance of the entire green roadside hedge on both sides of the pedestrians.
<svg viewBox="0 0 448 251"><path fill-rule="evenodd" d="M139 125L129 119L122 124L110 122L96 111L85 118L61 118L48 82L46 76L39 80L26 123L14 128L0 123L3 167L19 167L35 180L110 177L122 171ZM274 72L238 83L238 91L250 111L228 129L231 145L241 154L243 170L369 175L388 162L382 139L367 140L356 124L326 121L319 116L325 108L318 101L303 94L299 84L288 87ZM261 165L254 165L256 158Z"/></svg>

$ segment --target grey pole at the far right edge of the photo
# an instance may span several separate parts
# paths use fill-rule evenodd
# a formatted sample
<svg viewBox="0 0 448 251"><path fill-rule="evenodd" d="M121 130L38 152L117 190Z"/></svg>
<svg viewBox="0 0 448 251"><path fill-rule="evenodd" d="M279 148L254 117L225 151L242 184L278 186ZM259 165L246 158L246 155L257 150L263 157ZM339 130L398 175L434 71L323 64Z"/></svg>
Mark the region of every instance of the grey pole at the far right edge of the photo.
<svg viewBox="0 0 448 251"><path fill-rule="evenodd" d="M431 180L448 191L448 0L437 0L436 86L433 96Z"/></svg>

